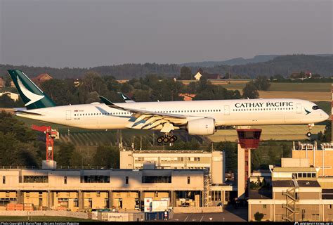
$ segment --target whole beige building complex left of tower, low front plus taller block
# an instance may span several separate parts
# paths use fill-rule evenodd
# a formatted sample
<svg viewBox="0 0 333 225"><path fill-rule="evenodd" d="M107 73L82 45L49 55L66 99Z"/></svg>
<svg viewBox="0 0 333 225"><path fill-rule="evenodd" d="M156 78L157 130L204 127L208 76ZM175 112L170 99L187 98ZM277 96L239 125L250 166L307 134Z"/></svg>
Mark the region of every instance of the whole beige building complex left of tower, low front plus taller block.
<svg viewBox="0 0 333 225"><path fill-rule="evenodd" d="M169 200L170 207L207 207L228 203L235 191L224 184L223 152L120 155L121 169L0 169L0 210L15 210L8 208L14 203L34 210L131 211L142 210L145 198Z"/></svg>

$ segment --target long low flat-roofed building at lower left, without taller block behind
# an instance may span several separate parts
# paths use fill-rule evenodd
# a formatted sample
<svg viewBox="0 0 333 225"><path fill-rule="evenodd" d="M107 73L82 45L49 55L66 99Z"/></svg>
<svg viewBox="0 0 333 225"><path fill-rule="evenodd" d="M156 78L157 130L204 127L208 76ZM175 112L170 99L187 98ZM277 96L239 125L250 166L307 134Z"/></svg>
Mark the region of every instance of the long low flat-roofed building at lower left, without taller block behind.
<svg viewBox="0 0 333 225"><path fill-rule="evenodd" d="M0 204L38 209L139 210L144 198L204 205L204 169L1 169Z"/></svg>

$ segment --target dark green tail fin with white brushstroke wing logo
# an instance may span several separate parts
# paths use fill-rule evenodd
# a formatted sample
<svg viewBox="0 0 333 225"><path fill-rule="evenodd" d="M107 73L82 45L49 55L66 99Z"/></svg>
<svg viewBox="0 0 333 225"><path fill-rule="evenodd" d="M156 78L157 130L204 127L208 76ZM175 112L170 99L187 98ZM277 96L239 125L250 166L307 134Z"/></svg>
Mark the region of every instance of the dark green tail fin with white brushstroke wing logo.
<svg viewBox="0 0 333 225"><path fill-rule="evenodd" d="M8 70L8 73L11 75L11 79L13 79L18 93L28 110L56 106L51 98L44 94L24 72L21 70Z"/></svg>

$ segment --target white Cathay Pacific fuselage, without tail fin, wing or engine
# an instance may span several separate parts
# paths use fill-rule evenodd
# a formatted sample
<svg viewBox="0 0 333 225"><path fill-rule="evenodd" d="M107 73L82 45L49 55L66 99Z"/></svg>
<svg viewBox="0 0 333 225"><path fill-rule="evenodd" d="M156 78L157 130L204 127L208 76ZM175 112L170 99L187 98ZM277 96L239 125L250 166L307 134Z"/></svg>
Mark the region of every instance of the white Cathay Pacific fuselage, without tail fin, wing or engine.
<svg viewBox="0 0 333 225"><path fill-rule="evenodd" d="M168 101L116 103L124 108L198 117L212 117L217 126L262 124L313 124L327 120L321 109L313 110L310 101L293 98L237 99L211 101ZM136 118L124 110L104 103L64 105L28 110L41 115L18 116L84 129L128 129ZM309 113L310 112L310 113Z"/></svg>

